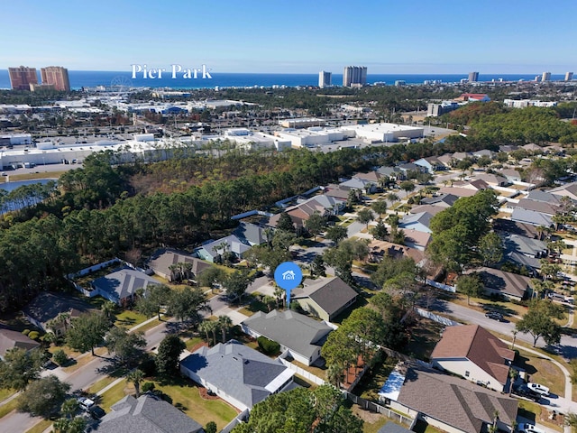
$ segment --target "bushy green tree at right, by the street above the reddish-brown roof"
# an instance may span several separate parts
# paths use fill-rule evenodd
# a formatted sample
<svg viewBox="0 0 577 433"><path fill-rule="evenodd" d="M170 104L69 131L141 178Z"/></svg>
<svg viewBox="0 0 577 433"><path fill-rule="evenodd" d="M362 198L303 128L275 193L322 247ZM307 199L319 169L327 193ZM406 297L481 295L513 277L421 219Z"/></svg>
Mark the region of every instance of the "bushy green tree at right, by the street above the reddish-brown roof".
<svg viewBox="0 0 577 433"><path fill-rule="evenodd" d="M517 322L516 329L533 337L533 347L541 337L547 345L554 345L561 340L561 327L554 318L563 318L563 314L563 309L552 302L533 299L525 316Z"/></svg>

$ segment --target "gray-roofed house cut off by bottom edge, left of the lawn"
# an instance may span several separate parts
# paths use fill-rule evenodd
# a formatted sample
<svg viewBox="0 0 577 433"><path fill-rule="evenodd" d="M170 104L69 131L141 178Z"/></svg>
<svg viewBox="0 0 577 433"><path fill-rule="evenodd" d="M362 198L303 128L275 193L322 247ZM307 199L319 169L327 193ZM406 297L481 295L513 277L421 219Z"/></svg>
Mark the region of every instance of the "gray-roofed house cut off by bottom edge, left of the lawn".
<svg viewBox="0 0 577 433"><path fill-rule="evenodd" d="M150 393L117 401L92 431L98 433L200 433L203 428L182 410Z"/></svg>

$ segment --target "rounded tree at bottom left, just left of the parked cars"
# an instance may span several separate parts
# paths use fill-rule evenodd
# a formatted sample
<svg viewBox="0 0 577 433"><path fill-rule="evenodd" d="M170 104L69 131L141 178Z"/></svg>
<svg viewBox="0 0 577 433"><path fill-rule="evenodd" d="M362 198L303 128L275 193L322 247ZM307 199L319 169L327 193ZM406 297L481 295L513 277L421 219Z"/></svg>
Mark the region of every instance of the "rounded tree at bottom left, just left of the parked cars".
<svg viewBox="0 0 577 433"><path fill-rule="evenodd" d="M18 399L18 410L49 419L58 413L69 389L69 383L60 382L54 375L42 377L26 387Z"/></svg>

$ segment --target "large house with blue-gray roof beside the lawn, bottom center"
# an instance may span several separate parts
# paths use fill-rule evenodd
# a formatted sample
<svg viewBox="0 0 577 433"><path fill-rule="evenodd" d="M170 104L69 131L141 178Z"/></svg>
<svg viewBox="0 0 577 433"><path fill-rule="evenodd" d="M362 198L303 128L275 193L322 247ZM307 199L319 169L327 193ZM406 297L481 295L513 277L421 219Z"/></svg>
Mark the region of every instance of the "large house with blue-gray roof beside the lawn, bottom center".
<svg viewBox="0 0 577 433"><path fill-rule="evenodd" d="M292 370L236 340L200 347L180 361L180 373L238 410L251 410L270 394L292 386Z"/></svg>

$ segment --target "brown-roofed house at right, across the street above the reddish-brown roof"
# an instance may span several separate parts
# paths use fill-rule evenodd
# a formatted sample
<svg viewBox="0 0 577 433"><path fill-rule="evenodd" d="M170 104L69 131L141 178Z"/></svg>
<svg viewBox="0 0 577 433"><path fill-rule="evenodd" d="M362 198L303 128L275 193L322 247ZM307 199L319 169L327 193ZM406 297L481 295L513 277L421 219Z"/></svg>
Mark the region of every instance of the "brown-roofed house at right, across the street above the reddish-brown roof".
<svg viewBox="0 0 577 433"><path fill-rule="evenodd" d="M517 273L481 267L465 273L474 273L481 278L485 293L501 295L507 299L522 300L531 290L531 279ZM457 285L459 281L457 281Z"/></svg>

